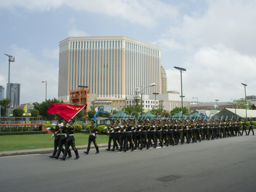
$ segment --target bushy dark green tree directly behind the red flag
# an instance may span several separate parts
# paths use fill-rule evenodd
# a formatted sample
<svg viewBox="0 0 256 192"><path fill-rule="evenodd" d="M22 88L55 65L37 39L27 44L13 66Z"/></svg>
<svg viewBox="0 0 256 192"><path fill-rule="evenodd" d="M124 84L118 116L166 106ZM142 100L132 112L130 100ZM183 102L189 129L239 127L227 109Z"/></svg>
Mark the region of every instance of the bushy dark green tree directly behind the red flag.
<svg viewBox="0 0 256 192"><path fill-rule="evenodd" d="M63 101L59 101L56 98L54 98L53 100L45 100L42 103L33 103L34 104L34 109L39 110L39 114L42 115L43 117L46 118L50 118L50 119L55 119L56 114L50 114L47 112L47 109L49 108L49 106L53 103L63 103ZM57 117L60 117L59 115L57 115Z"/></svg>

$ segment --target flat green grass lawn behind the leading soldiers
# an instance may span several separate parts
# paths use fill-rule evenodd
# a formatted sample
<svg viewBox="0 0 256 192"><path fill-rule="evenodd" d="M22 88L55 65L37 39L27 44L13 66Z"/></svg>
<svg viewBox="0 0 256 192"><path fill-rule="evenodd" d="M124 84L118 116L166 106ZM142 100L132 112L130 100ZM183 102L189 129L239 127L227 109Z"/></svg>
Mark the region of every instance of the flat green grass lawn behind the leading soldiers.
<svg viewBox="0 0 256 192"><path fill-rule="evenodd" d="M47 144L50 137L51 134L0 136L0 151L54 147L54 138L52 138L51 141ZM88 144L88 134L74 133L74 137L76 146ZM108 143L108 135L98 135L98 137L100 137L104 141L96 138L97 143Z"/></svg>

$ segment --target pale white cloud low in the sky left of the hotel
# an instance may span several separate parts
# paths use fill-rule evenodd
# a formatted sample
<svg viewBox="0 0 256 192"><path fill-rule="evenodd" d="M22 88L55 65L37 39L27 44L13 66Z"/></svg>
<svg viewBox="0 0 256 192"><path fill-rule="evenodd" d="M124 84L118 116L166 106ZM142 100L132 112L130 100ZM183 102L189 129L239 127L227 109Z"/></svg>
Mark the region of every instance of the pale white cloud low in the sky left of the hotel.
<svg viewBox="0 0 256 192"><path fill-rule="evenodd" d="M21 104L26 102L42 102L45 100L45 83L47 81L47 98L57 98L58 74L57 67L46 65L38 61L30 50L11 45L11 55L15 62L11 62L10 83L21 84ZM8 61L1 62L0 84L8 83Z"/></svg>

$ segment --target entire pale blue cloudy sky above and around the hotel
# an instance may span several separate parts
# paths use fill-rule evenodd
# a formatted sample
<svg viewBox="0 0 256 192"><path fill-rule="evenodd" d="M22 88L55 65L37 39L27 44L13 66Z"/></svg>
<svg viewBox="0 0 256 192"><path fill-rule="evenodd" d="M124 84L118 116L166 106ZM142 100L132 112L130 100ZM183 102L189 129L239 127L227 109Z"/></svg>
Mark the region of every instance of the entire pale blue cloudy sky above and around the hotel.
<svg viewBox="0 0 256 192"><path fill-rule="evenodd" d="M186 101L256 95L256 1L8 0L0 4L0 85L21 84L21 103L57 98L59 42L75 36L126 36L161 46L167 90Z"/></svg>

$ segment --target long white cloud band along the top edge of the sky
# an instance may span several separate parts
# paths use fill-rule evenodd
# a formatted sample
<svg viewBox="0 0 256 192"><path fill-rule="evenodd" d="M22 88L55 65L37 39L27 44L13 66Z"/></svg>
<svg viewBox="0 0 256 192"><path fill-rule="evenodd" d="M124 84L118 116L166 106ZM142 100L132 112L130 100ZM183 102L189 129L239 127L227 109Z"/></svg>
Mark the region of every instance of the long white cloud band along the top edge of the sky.
<svg viewBox="0 0 256 192"><path fill-rule="evenodd" d="M109 15L148 27L155 26L159 19L176 18L179 11L178 7L162 3L160 0L9 0L0 4L0 8L22 7L28 11L50 11L61 6L82 12Z"/></svg>

